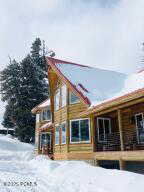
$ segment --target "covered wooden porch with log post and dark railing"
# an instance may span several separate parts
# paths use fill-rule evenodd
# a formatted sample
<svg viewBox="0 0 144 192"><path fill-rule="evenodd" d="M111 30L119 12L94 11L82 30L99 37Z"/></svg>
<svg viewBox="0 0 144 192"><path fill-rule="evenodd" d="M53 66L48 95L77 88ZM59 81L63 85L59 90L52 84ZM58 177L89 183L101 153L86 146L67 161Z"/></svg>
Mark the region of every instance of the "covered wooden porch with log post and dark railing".
<svg viewBox="0 0 144 192"><path fill-rule="evenodd" d="M144 150L144 103L94 117L94 152Z"/></svg>

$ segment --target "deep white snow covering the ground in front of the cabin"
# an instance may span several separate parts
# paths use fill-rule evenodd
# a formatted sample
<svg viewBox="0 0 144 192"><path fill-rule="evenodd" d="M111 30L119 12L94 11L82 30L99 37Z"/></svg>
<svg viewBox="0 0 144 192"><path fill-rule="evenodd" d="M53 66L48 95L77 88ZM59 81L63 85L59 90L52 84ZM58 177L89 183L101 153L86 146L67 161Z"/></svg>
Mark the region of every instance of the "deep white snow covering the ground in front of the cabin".
<svg viewBox="0 0 144 192"><path fill-rule="evenodd" d="M46 156L35 156L33 150L32 145L0 135L0 192L138 192L143 189L144 175L93 167L82 161L52 161ZM8 186L12 184L15 186Z"/></svg>

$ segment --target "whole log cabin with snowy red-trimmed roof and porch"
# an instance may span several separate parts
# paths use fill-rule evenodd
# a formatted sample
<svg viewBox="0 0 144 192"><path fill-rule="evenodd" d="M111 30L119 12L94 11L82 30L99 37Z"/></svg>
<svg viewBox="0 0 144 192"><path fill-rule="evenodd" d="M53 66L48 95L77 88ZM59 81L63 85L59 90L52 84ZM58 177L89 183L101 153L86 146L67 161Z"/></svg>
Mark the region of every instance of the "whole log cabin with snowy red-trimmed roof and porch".
<svg viewBox="0 0 144 192"><path fill-rule="evenodd" d="M50 98L32 109L36 153L144 172L144 71L46 59Z"/></svg>

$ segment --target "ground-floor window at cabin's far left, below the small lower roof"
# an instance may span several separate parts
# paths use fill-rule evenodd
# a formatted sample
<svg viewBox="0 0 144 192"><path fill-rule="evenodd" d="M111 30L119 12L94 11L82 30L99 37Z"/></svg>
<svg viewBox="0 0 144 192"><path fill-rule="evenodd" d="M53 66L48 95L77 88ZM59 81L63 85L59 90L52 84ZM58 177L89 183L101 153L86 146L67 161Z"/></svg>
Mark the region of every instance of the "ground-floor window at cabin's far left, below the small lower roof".
<svg viewBox="0 0 144 192"><path fill-rule="evenodd" d="M51 144L51 134L50 133L41 133L40 135L40 149L45 145Z"/></svg>

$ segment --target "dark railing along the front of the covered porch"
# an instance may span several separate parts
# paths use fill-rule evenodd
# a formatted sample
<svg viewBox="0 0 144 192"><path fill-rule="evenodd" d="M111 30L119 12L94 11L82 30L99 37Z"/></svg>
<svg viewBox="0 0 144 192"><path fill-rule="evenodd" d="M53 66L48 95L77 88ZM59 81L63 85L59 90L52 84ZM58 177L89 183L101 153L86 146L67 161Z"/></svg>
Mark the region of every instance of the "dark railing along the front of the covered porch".
<svg viewBox="0 0 144 192"><path fill-rule="evenodd" d="M144 150L144 142L139 141L136 130L122 132L123 149ZM114 132L106 135L99 135L95 139L96 151L121 151L120 133Z"/></svg>

